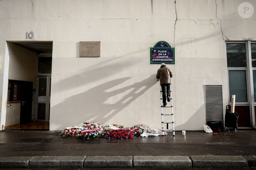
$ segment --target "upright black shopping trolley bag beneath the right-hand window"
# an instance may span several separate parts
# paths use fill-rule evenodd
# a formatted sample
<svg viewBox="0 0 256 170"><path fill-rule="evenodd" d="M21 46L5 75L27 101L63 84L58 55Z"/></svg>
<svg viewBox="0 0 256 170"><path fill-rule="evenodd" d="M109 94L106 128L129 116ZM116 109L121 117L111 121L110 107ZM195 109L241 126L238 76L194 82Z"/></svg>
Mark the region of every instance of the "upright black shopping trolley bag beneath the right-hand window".
<svg viewBox="0 0 256 170"><path fill-rule="evenodd" d="M225 127L237 129L238 118L239 118L238 113L236 111L234 113L230 112L230 106L229 105L226 106Z"/></svg>

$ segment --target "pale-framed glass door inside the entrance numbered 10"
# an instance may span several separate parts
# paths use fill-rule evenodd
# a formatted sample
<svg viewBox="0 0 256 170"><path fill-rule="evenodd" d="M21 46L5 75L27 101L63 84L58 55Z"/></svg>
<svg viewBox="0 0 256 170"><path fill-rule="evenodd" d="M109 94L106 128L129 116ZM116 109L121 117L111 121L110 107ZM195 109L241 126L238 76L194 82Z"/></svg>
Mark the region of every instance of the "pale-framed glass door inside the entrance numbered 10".
<svg viewBox="0 0 256 170"><path fill-rule="evenodd" d="M51 76L38 76L36 80L35 120L49 122Z"/></svg>

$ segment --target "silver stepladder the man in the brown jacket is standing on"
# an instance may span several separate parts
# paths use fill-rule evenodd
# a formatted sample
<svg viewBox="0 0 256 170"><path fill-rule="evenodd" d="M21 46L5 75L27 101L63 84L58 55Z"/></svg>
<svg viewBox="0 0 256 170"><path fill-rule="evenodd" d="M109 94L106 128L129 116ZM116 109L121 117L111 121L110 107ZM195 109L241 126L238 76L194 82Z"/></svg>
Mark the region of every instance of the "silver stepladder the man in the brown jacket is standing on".
<svg viewBox="0 0 256 170"><path fill-rule="evenodd" d="M162 87L160 86L160 105L161 105L161 119L162 119L162 135L164 136L166 132L173 132L173 136L175 136L175 128L174 128L174 114L173 114L173 98L172 98L172 88L170 84L169 88L170 92L162 91ZM164 95L163 93L170 95ZM169 97L167 100L167 105L163 103L163 97ZM166 100L165 100L166 101ZM170 126L172 125L172 126Z"/></svg>

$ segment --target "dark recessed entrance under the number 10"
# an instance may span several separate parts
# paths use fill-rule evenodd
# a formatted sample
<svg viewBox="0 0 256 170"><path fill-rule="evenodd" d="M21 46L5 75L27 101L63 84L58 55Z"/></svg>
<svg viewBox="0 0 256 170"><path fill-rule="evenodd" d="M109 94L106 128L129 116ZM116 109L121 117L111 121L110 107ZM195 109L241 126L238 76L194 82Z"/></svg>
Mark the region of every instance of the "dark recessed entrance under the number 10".
<svg viewBox="0 0 256 170"><path fill-rule="evenodd" d="M43 107L38 108L38 98L43 101L46 98L48 103L50 103L50 98L38 95L37 80L39 76L51 76L51 72L45 72L45 70L51 70L51 62L48 62L48 60L46 62L45 59L50 61L52 59L53 42L9 41L8 51L11 61L9 64L11 77L9 76L8 86L9 116L7 116L8 124L4 129L49 130L50 105L47 105L46 109ZM34 69L27 69L26 67ZM15 71L21 72L21 74L16 74ZM34 80L33 77L35 77ZM50 83L48 89L50 90ZM12 104L12 102L15 104ZM17 109L19 108L19 106L17 107L17 102L20 103L20 110ZM47 119L38 119L38 112L44 113L45 110L48 111ZM12 115L16 119L12 119Z"/></svg>

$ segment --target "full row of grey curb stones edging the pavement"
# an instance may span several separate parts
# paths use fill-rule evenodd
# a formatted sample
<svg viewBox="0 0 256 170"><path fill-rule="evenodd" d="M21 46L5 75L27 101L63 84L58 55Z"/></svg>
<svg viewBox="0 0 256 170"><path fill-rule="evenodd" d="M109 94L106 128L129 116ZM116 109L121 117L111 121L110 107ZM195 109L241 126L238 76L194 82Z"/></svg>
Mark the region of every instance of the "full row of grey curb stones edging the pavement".
<svg viewBox="0 0 256 170"><path fill-rule="evenodd" d="M245 168L256 156L12 156L0 157L2 168Z"/></svg>

